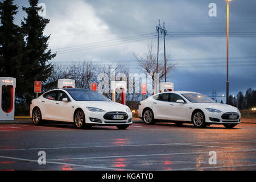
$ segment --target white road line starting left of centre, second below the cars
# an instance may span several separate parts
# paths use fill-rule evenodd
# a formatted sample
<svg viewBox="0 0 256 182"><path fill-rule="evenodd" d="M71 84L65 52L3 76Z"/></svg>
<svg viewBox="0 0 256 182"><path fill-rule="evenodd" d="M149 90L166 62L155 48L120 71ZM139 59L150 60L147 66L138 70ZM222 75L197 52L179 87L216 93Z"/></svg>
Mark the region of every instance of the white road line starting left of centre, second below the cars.
<svg viewBox="0 0 256 182"><path fill-rule="evenodd" d="M237 151L216 151L217 153L225 152L250 152L254 150L237 150ZM168 154L141 154L141 155L115 155L115 156L96 156L88 158L64 158L64 159L48 159L48 160L80 160L80 159L105 159L105 158L131 158L131 157L144 157L144 156L162 156L162 155L188 155L188 154L209 154L209 152L181 152L181 153L168 153Z"/></svg>

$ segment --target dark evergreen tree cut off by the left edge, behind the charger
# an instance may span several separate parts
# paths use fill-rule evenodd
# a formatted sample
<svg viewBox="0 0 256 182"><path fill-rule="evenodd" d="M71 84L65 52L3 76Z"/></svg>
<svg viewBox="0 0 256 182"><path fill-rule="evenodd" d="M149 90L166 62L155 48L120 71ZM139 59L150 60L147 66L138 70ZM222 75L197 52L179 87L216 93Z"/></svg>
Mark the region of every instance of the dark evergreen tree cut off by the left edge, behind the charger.
<svg viewBox="0 0 256 182"><path fill-rule="evenodd" d="M13 1L0 2L0 77L15 77L17 91L24 42L20 27L14 24L14 15L18 13L18 7L13 5Z"/></svg>

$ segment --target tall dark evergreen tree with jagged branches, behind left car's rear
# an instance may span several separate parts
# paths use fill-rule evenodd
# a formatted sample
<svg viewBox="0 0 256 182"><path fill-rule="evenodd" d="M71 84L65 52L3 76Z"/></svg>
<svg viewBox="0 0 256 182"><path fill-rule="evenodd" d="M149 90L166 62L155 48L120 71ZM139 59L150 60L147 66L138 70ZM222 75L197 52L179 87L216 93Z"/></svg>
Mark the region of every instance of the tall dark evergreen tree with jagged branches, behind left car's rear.
<svg viewBox="0 0 256 182"><path fill-rule="evenodd" d="M22 30L26 38L22 70L24 75L23 97L27 104L30 103L34 94L34 81L45 82L51 75L52 65L49 60L56 56L48 48L50 36L44 36L44 28L49 23L49 19L39 16L38 0L29 0L30 7L22 7L27 13L27 18L22 21Z"/></svg>

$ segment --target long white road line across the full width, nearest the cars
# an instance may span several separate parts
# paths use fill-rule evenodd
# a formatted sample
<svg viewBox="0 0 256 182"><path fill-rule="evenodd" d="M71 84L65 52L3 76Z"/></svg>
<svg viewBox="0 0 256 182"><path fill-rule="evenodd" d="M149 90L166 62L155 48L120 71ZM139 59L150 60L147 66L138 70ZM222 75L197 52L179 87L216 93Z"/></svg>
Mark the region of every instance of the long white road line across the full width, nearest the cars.
<svg viewBox="0 0 256 182"><path fill-rule="evenodd" d="M226 141L226 142L195 142L195 143L156 143L156 144L129 144L118 146L80 146L80 147L42 147L42 148L14 148L14 149L1 149L0 151L19 151L19 150L57 150L57 149L72 149L72 148L103 148L103 147L138 147L138 146L168 146L168 145L193 145L201 143L239 143L239 142L256 142L256 140L243 140L243 141ZM218 147L218 146L204 146L204 147ZM226 147L223 147L226 148ZM247 148L250 149L250 148ZM254 150L254 149L253 149Z"/></svg>

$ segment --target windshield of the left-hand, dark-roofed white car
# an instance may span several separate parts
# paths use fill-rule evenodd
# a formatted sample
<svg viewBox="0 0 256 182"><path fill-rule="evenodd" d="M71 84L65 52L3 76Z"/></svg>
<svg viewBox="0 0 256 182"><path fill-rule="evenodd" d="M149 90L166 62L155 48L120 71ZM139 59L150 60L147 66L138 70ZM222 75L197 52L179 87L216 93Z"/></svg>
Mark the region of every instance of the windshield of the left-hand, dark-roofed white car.
<svg viewBox="0 0 256 182"><path fill-rule="evenodd" d="M76 101L110 101L102 94L86 89L65 89Z"/></svg>

